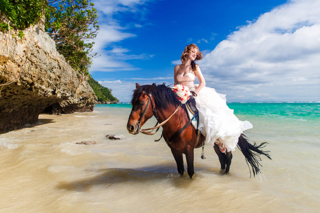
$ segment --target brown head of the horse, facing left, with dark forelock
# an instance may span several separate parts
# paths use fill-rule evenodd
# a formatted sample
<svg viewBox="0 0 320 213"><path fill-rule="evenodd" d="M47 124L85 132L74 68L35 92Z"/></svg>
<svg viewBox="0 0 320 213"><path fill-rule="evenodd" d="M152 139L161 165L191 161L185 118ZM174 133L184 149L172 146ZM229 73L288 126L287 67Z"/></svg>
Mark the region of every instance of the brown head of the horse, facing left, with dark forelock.
<svg viewBox="0 0 320 213"><path fill-rule="evenodd" d="M136 89L132 96L132 110L127 123L127 130L131 134L138 134L141 126L154 114L154 99L151 95L156 85L140 86L136 83ZM149 103L152 104L149 104Z"/></svg>

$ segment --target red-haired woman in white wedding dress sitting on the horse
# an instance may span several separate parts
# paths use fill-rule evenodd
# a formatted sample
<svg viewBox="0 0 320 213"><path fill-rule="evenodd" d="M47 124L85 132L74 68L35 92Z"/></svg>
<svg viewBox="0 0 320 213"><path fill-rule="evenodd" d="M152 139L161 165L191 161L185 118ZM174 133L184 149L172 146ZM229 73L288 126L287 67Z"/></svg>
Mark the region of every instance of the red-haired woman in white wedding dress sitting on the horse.
<svg viewBox="0 0 320 213"><path fill-rule="evenodd" d="M196 60L202 59L196 44L189 44L181 55L182 64L174 67L174 84L188 86L197 94L196 107L199 111L198 129L206 136L206 145L218 144L221 152L234 151L240 134L252 128L249 121L240 121L226 104L226 95L205 87L205 80ZM200 84L194 84L198 78Z"/></svg>

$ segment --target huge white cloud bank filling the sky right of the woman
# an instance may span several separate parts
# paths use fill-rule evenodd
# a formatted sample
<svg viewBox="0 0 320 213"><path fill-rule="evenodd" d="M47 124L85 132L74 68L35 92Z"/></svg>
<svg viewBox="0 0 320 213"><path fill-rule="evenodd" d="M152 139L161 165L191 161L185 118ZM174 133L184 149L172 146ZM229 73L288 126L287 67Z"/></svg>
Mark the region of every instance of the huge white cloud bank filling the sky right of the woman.
<svg viewBox="0 0 320 213"><path fill-rule="evenodd" d="M320 1L289 1L247 23L199 61L207 86L234 101L318 101Z"/></svg>

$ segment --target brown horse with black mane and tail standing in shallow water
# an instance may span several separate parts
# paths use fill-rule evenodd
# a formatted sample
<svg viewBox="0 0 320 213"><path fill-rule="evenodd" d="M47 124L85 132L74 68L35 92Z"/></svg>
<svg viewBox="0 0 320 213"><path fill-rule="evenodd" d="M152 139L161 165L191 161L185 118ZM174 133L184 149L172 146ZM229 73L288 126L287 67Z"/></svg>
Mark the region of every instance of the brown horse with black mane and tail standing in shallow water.
<svg viewBox="0 0 320 213"><path fill-rule="evenodd" d="M151 105L149 104L151 102ZM127 129L131 134L138 134L141 131L141 126L147 122L149 118L155 116L159 123L164 122L169 118L173 112L180 106L180 101L171 88L161 85L143 85L136 84L136 89L132 95L132 110L127 123ZM172 138L186 123L188 123L188 115L184 108L180 108L177 113L162 126L164 139ZM193 160L194 148L199 146L201 141L197 144L196 130L189 125L178 136L174 137L170 142L166 140L167 145L171 149L172 155L177 163L178 172L183 175L183 156L186 155L188 175L192 178L194 174ZM254 143L250 144L245 136L242 134L239 137L238 148L244 154L247 164L252 167L253 175L260 172L259 165L261 158L259 155L265 155L269 159L268 151L262 151L259 148L264 147L264 143L259 146ZM219 157L221 170L228 172L230 169L232 154L231 152L222 153L217 144L214 145L214 150ZM254 151L255 153L253 153ZM248 164L248 165L249 165ZM249 167L250 168L250 167ZM250 171L251 177L251 171Z"/></svg>

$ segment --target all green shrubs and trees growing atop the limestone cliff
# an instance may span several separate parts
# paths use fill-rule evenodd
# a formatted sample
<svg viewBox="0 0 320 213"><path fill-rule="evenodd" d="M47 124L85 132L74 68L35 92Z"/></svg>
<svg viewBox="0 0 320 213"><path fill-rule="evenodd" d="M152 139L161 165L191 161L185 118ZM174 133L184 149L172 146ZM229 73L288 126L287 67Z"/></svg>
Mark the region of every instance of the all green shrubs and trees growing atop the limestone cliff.
<svg viewBox="0 0 320 213"><path fill-rule="evenodd" d="M92 64L93 39L99 30L97 10L90 0L0 0L0 30L23 30L45 13L45 31L58 52L84 77ZM18 33L23 36L22 31Z"/></svg>

